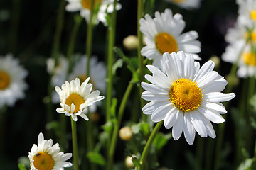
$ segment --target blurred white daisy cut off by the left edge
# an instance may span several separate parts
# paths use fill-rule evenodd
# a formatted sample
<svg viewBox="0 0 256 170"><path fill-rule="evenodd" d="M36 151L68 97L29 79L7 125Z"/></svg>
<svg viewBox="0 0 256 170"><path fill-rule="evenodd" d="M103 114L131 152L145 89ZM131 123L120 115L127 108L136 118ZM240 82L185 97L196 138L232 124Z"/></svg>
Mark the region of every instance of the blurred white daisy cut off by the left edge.
<svg viewBox="0 0 256 170"><path fill-rule="evenodd" d="M0 108L4 105L14 106L14 103L25 97L28 88L25 78L28 72L23 69L12 55L0 57Z"/></svg>

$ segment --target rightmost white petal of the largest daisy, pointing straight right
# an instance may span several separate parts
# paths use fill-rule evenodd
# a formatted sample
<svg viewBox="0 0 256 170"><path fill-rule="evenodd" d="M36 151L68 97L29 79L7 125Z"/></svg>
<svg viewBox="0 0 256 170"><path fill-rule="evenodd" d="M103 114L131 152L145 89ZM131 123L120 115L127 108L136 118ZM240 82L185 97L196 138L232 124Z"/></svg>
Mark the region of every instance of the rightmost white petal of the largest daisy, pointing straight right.
<svg viewBox="0 0 256 170"><path fill-rule="evenodd" d="M230 101L234 97L235 97L234 93L223 94L220 92L212 92L212 93L203 95L204 100L210 101L210 102Z"/></svg>

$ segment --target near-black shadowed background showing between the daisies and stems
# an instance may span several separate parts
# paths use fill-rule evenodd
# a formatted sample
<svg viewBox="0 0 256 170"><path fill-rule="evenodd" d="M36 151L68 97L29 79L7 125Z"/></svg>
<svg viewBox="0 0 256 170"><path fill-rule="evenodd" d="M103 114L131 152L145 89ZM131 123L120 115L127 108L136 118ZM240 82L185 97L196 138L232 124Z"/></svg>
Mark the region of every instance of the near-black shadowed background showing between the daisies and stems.
<svg viewBox="0 0 256 170"><path fill-rule="evenodd" d="M55 124L49 124L46 120L46 103L49 101L47 96L50 81L46 69L46 60L50 58L53 52L53 40L58 21L57 14L61 3L63 3L62 0L0 1L0 55L13 54L29 73L28 77L26 77L26 82L29 86L29 89L26 90L26 98L18 100L14 107L4 108L4 115L1 115L0 127L3 135L0 136L0 140L4 146L4 154L2 153L4 157L1 160L0 169L18 169L18 159L28 156L32 145L37 142L39 132L43 132L46 139L53 137L54 143L59 142L58 135L56 135L56 130L54 129ZM135 57L137 55L136 50L127 50L122 41L128 35L137 35L137 1L120 0L119 3L122 4L122 9L117 11L115 45L121 48L125 55ZM65 4L67 3L65 2ZM189 30L198 32L198 40L201 42L201 53L199 53L202 58L201 64L210 60L212 56L221 57L227 46L224 40L226 30L233 26L238 15L238 6L235 4L235 0L203 0L201 1L201 8L190 11L167 3L164 0L158 0L155 1L155 6L149 11L149 14L154 16L154 11L164 12L165 8L171 8L173 13L181 13L183 20L186 21L186 28L183 33ZM60 35L59 52L65 56L67 55L71 30L75 24L74 17L79 12L70 13L64 10L63 13L63 32ZM83 20L75 39L74 53L85 54L86 30L87 23ZM99 60L104 62L106 61L106 40L107 28L102 23L99 23L94 28L92 55L97 55ZM225 76L230 72L230 68L231 64L220 61L220 67L216 69L221 75ZM132 74L126 67L119 68L117 72L119 77L114 79L114 89L116 91L115 96L119 99L122 98ZM235 87L234 92L237 89L238 87ZM139 96L135 92L132 95ZM235 100L232 101L233 106L237 104L237 99L240 96L240 94L236 95ZM132 106L133 101L134 97L131 97L128 105ZM58 107L58 105L53 105L50 108L53 111L54 120L58 120L60 117L60 113L55 112ZM132 107L127 107L124 123L126 119L129 119L131 110ZM226 117L224 147L221 152L221 158L225 161L221 162L221 169L229 169L235 162L233 157L235 125L229 113L230 111L228 111ZM84 120L78 120L78 126L82 121ZM100 120L97 124L101 127L104 123L105 115L103 110L100 113ZM48 125L48 128L46 125ZM214 128L218 137L215 125ZM67 130L67 136L70 137L69 121ZM47 135L48 131L52 131L52 135ZM102 131L102 129L100 128L98 131ZM161 128L161 132L167 133L171 131ZM196 135L196 140L198 138L199 136ZM207 137L207 139L203 140L206 142L211 139ZM201 142L196 141L193 145L188 145L184 137L181 137L178 141L170 139L164 149L157 153L158 162L161 166L172 169L193 169L196 159L196 146L201 145ZM125 157L126 144L119 141L117 145L119 145L117 147L119 149L117 149L116 160L121 162L123 160L122 157ZM72 152L71 146L70 143L69 147L63 150ZM206 145L202 146L205 146L203 149L207 149ZM206 159L203 158L203 164L206 164Z"/></svg>

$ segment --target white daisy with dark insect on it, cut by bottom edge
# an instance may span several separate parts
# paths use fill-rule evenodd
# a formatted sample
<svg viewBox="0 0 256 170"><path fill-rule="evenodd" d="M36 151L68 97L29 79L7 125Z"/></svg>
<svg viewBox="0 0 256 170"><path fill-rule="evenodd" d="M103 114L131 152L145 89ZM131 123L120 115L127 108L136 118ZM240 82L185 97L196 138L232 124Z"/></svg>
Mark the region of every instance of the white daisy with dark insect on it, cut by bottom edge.
<svg viewBox="0 0 256 170"><path fill-rule="evenodd" d="M70 157L72 154L60 152L58 143L53 145L52 139L44 140L43 133L38 135L38 145L34 144L31 152L28 152L31 170L63 170L72 166L66 162Z"/></svg>

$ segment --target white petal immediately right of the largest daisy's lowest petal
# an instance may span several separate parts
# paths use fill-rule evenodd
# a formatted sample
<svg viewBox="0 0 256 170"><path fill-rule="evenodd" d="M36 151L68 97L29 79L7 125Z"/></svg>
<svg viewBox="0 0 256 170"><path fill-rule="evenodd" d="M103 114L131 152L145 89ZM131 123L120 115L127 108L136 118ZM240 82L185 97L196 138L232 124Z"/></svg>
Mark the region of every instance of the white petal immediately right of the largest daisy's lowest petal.
<svg viewBox="0 0 256 170"><path fill-rule="evenodd" d="M191 123L195 128L196 132L198 132L201 137L207 137L206 126L203 124L203 120L201 120L201 117L199 115L200 113L198 113L197 111L191 111L191 113L186 114L190 115Z"/></svg>

